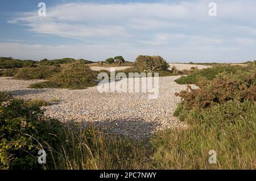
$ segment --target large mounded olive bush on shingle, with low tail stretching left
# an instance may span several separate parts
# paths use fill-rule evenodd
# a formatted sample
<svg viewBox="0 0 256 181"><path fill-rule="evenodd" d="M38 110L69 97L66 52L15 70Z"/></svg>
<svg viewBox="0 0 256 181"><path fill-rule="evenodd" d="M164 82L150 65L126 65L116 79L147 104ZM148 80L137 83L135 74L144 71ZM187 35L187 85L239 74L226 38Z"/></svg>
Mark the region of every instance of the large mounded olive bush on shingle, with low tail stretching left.
<svg viewBox="0 0 256 181"><path fill-rule="evenodd" d="M85 89L96 85L96 77L96 71L92 71L84 62L76 61L65 66L60 73L49 78L49 81L36 83L30 87Z"/></svg>

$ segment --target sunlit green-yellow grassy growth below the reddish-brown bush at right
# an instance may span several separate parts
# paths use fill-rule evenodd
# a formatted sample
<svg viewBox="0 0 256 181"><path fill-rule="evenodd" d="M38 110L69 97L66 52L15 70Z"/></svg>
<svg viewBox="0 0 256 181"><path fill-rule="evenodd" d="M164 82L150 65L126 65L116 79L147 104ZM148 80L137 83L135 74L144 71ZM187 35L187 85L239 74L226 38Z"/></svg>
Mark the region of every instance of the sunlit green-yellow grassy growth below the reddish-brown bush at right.
<svg viewBox="0 0 256 181"><path fill-rule="evenodd" d="M221 112L234 104L240 107L239 116ZM229 123L226 116L232 116ZM209 112L192 112L187 121L188 129L156 134L152 140L154 169L256 169L255 103L230 102ZM217 152L217 164L208 162L210 150Z"/></svg>

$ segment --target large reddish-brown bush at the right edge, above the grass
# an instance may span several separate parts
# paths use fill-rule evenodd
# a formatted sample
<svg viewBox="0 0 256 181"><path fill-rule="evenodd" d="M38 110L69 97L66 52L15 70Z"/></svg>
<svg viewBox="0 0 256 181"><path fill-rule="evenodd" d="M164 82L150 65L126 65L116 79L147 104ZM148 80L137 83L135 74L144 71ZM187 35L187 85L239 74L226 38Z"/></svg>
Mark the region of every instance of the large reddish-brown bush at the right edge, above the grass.
<svg viewBox="0 0 256 181"><path fill-rule="evenodd" d="M256 100L256 69L248 72L238 71L236 74L218 74L212 81L201 79L197 83L199 89L191 89L176 94L183 99L184 110L210 108L228 100L243 102Z"/></svg>

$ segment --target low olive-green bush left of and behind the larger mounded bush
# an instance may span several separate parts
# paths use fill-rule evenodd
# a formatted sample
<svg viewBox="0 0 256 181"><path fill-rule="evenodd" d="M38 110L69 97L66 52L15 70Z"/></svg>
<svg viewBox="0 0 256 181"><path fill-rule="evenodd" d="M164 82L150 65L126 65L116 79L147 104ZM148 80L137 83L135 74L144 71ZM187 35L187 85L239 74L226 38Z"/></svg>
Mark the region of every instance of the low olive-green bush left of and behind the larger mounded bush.
<svg viewBox="0 0 256 181"><path fill-rule="evenodd" d="M54 74L59 73L60 68L55 66L38 66L36 68L23 68L14 74L14 79L49 79Z"/></svg>

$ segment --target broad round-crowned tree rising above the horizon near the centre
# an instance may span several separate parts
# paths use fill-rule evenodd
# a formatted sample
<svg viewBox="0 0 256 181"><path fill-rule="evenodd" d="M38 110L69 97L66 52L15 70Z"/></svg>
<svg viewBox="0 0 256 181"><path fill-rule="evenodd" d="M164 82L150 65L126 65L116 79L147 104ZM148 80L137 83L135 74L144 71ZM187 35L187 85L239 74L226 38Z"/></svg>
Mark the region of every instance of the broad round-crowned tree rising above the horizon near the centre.
<svg viewBox="0 0 256 181"><path fill-rule="evenodd" d="M169 64L160 56L138 56L133 64L137 71L155 72L164 71L170 67Z"/></svg>

